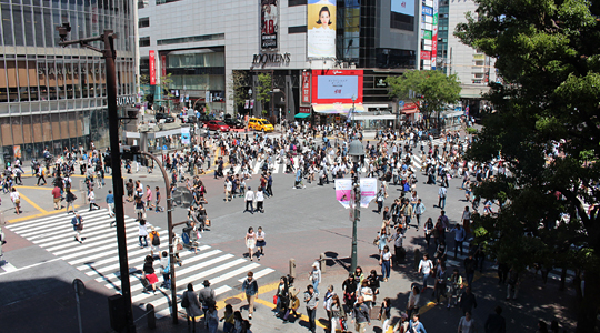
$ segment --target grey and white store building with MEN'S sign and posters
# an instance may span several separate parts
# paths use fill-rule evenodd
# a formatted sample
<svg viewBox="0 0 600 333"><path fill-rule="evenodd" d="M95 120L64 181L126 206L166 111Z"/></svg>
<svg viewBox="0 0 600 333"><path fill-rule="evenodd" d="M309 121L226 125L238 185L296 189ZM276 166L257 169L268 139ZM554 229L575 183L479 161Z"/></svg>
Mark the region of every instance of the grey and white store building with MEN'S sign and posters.
<svg viewBox="0 0 600 333"><path fill-rule="evenodd" d="M340 121L332 114L359 109L391 110L383 80L414 69L418 61L419 7L406 3L150 0L138 11L140 74L150 83L144 91L149 100L168 101L174 110L276 121L316 115L316 122L331 122ZM272 78L270 102L259 95L261 73ZM317 77L339 83L336 75L351 77L343 81L353 93L339 89L343 97L337 100L313 85ZM170 81L168 89L156 89L163 79Z"/></svg>

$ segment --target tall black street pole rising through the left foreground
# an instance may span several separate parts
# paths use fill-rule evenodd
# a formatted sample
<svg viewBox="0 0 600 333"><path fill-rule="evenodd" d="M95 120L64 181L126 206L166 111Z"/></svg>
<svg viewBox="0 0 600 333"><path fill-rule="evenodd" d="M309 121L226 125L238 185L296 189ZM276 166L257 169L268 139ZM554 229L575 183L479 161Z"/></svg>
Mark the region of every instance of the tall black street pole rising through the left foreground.
<svg viewBox="0 0 600 333"><path fill-rule="evenodd" d="M104 30L102 36L107 61L107 100L109 113L110 150L112 155L112 191L114 193L114 216L117 221L117 246L119 249L119 271L121 273L121 294L123 295L127 317L127 332L136 332L131 309L131 284L129 282L129 262L127 258L127 235L123 210L123 178L121 173L121 152L119 150L119 114L117 112L117 73L114 68L114 38L112 30Z"/></svg>

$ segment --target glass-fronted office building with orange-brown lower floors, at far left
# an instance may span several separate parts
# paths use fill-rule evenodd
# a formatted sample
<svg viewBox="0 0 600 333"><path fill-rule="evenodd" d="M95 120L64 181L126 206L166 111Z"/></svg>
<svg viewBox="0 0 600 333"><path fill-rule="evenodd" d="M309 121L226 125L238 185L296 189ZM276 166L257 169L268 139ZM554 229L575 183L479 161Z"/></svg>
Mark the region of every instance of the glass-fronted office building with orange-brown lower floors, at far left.
<svg viewBox="0 0 600 333"><path fill-rule="evenodd" d="M69 40L117 32L118 104L136 101L134 2L0 0L0 159L39 158L44 148L108 147L106 67L101 54ZM92 43L103 48L102 43Z"/></svg>

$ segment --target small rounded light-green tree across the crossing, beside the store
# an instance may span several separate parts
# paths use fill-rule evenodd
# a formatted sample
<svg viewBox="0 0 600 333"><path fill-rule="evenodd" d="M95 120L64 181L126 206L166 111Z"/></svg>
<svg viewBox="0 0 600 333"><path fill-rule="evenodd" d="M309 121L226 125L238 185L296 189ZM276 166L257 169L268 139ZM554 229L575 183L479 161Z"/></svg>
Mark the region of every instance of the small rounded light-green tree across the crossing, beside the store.
<svg viewBox="0 0 600 333"><path fill-rule="evenodd" d="M441 71L407 71L401 77L388 77L386 82L389 97L413 102L428 123L432 112L439 117L444 105L460 98L457 75L447 77Z"/></svg>

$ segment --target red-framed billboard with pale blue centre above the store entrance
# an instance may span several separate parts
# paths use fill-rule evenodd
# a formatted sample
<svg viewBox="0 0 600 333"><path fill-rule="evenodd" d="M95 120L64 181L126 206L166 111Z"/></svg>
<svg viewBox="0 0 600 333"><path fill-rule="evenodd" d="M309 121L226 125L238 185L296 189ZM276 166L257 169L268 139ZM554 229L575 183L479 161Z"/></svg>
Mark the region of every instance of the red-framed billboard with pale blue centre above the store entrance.
<svg viewBox="0 0 600 333"><path fill-rule="evenodd" d="M313 103L362 103L362 70L312 72Z"/></svg>

